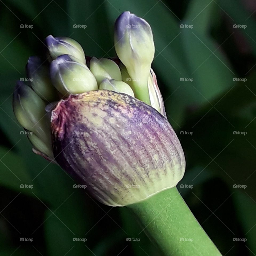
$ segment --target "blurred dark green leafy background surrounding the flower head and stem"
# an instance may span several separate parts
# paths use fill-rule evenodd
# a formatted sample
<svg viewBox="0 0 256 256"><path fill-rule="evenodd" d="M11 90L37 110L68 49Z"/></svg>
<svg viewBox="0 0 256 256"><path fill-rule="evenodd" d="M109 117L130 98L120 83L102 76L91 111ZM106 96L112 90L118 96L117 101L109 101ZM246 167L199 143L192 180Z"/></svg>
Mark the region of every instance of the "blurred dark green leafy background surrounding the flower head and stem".
<svg viewBox="0 0 256 256"><path fill-rule="evenodd" d="M47 35L74 38L86 55L112 57L113 24L125 10L153 30L153 69L187 162L179 191L223 255L256 254L255 1L0 0L0 6L1 256L161 255L126 208L95 202L61 168L34 155L12 111L15 81L25 77L28 57L42 53Z"/></svg>

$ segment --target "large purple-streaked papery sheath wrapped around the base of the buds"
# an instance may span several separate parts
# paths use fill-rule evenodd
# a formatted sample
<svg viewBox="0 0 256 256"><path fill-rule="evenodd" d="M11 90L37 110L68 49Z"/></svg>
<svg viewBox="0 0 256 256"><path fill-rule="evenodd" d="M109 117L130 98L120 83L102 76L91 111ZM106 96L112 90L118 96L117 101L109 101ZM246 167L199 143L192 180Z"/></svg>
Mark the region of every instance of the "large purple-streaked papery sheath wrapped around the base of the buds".
<svg viewBox="0 0 256 256"><path fill-rule="evenodd" d="M143 201L176 186L185 171L167 119L127 94L70 95L52 111L51 131L55 160L106 205Z"/></svg>

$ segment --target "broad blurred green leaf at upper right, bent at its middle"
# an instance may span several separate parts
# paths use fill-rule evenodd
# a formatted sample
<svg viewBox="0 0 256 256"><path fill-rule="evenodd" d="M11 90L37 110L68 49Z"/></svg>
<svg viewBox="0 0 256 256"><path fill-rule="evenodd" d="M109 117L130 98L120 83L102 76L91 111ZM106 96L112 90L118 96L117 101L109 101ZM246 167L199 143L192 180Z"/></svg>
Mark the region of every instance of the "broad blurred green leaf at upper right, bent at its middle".
<svg viewBox="0 0 256 256"><path fill-rule="evenodd" d="M181 29L190 66L189 78L194 79L184 85L189 90L188 103L191 105L202 105L213 100L231 87L235 77L230 63L220 51L221 45L218 46L209 35L210 17L214 8L218 6L210 0L191 2L183 23L194 27Z"/></svg>

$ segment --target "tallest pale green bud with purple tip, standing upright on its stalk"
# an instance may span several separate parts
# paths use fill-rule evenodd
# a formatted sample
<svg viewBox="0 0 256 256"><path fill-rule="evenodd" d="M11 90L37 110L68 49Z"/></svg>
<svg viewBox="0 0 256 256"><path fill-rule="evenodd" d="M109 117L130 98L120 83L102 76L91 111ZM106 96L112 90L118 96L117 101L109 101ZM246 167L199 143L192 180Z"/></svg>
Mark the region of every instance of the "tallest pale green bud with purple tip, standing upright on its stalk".
<svg viewBox="0 0 256 256"><path fill-rule="evenodd" d="M148 77L155 47L149 23L125 11L115 22L114 43L130 75L135 97L150 104Z"/></svg>

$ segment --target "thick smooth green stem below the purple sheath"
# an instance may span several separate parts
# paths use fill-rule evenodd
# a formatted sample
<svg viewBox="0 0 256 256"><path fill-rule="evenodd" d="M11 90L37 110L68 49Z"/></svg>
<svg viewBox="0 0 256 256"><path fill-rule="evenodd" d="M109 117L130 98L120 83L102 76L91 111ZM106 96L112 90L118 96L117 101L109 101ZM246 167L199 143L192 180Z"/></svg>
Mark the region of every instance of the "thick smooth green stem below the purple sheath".
<svg viewBox="0 0 256 256"><path fill-rule="evenodd" d="M127 207L166 255L221 256L176 187Z"/></svg>

